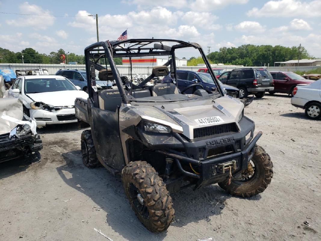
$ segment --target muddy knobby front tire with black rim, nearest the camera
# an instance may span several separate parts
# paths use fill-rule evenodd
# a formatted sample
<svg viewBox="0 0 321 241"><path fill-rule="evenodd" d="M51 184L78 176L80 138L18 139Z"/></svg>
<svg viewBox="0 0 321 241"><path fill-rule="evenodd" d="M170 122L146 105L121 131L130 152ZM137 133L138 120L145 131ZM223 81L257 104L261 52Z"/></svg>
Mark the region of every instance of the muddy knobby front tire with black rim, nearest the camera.
<svg viewBox="0 0 321 241"><path fill-rule="evenodd" d="M153 233L165 231L174 220L175 211L155 169L145 161L130 162L123 168L121 179L129 203L143 225Z"/></svg>

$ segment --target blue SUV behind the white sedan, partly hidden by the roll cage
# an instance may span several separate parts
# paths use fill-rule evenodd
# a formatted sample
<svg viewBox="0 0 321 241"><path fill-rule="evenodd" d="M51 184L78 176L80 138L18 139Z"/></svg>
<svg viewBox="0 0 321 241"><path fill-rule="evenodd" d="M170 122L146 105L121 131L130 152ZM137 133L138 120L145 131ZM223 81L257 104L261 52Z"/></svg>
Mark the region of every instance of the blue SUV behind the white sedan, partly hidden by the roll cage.
<svg viewBox="0 0 321 241"><path fill-rule="evenodd" d="M86 70L82 69L59 69L56 75L64 76L69 79L74 85L79 86L83 91L88 93L87 89L87 75ZM108 89L113 85L112 81L101 81L98 79L98 74L96 74L96 85L103 89Z"/></svg>

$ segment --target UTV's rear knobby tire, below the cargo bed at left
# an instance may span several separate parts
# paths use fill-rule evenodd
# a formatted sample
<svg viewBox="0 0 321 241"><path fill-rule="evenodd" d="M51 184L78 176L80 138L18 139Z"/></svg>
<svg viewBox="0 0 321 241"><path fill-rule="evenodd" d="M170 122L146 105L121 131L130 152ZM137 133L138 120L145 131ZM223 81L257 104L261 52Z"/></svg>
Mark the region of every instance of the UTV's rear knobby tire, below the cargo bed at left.
<svg viewBox="0 0 321 241"><path fill-rule="evenodd" d="M81 153L82 163L85 166L89 168L99 166L94 141L91 136L91 130L84 130L81 134Z"/></svg>

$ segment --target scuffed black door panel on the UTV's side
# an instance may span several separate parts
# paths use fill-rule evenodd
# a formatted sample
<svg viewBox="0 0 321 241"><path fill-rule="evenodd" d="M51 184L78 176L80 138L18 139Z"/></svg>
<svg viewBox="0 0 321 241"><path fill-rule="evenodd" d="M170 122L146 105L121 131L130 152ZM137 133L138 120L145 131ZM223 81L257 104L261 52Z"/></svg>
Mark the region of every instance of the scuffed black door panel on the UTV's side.
<svg viewBox="0 0 321 241"><path fill-rule="evenodd" d="M92 107L92 123L91 132L100 162L117 170L123 169L126 164L119 136L118 111Z"/></svg>

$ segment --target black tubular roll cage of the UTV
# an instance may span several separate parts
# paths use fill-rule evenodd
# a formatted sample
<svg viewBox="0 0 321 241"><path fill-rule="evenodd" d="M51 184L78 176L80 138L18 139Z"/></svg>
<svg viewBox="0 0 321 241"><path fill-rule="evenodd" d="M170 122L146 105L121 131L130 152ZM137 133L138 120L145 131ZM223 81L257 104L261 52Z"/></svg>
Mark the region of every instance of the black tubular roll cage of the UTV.
<svg viewBox="0 0 321 241"><path fill-rule="evenodd" d="M160 50L155 48L143 48L144 46L151 44L151 43L160 43L163 46L162 42L175 42L178 43L171 47L171 51L168 50ZM124 44L131 44L128 47L122 47L120 45ZM139 47L137 47L139 46ZM102 49L100 49L102 47ZM171 56L172 61L171 64L174 68L174 78L177 80L177 73L176 73L176 61L175 61L175 50L192 47L198 49L201 53L201 56L205 62L207 69L209 70L209 74L212 76L215 85L217 86L217 90L223 96L223 92L220 88L220 84L218 83L216 76L213 73L212 67L208 62L208 59L202 49L202 47L197 43L190 43L181 40L170 40L170 39L128 39L128 40L120 40L120 41L102 41L91 44L90 46L85 48L85 64L86 64L86 75L87 75L87 86L88 86L88 94L94 102L98 101L97 96L94 96L92 84L96 85L96 78L95 76L91 76L91 66L95 67L97 70L106 69L106 66L102 66L99 63L101 58L105 58L108 60L109 67L113 73L116 85L118 87L118 91L122 97L122 102L125 104L129 104L129 100L126 96L124 91L123 82L120 78L119 72L117 71L117 67L113 58L118 57L143 57L143 56ZM104 53L100 54L103 51ZM136 51L136 52L132 52ZM146 52L147 51L147 52ZM96 52L96 53L93 53ZM97 56L98 55L98 56ZM97 58L94 58L97 56ZM92 58L93 60L91 60ZM95 60L96 59L96 60ZM130 60L131 61L131 60ZM131 63L130 63L131 64ZM107 64L106 64L107 65ZM177 81L176 81L177 85ZM96 100L95 100L96 99Z"/></svg>

